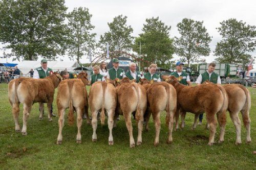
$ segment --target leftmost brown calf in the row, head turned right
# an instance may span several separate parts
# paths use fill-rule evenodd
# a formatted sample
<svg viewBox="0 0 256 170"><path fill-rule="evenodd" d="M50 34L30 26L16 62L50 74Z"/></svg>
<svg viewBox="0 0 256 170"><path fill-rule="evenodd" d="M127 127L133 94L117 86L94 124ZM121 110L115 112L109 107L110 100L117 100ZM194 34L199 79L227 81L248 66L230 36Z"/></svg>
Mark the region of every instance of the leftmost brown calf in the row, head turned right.
<svg viewBox="0 0 256 170"><path fill-rule="evenodd" d="M44 79L18 78L8 84L8 99L12 106L12 114L15 121L15 131L20 131L18 123L19 104L23 104L23 128L22 134L27 135L27 120L34 103L47 103L48 119L51 121L51 106L54 90L61 81L58 74L53 74ZM44 106L44 105L42 105ZM43 108L40 106L40 117Z"/></svg>

